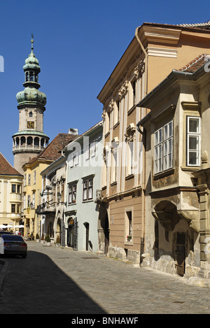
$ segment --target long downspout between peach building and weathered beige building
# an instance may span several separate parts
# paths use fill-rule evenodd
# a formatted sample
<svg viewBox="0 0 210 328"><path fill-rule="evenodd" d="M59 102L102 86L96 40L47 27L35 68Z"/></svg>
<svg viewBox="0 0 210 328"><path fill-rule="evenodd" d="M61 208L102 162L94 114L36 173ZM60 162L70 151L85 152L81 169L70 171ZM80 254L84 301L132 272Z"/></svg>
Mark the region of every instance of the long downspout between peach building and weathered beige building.
<svg viewBox="0 0 210 328"><path fill-rule="evenodd" d="M148 53L146 52L143 44L141 43L140 39L139 39L139 36L138 36L138 32L139 32L139 27L137 27L136 31L135 31L135 36L137 38L137 42L139 43L140 47L141 47L141 50L144 52L144 56L145 56L145 79L144 79L144 97L146 97L146 95L148 94ZM143 97L143 98L144 98ZM137 130L142 134L142 132L140 131L139 129L139 126L137 125ZM142 232L141 232L141 246L140 246L140 263L139 265L141 265L141 262L143 261L143 258L142 258L142 254L144 254L145 252L145 225L146 225L146 199L145 199L145 184L146 184L146 171L145 171L145 168L146 168L146 149L145 149L145 141L146 141L146 136L145 134L143 133L143 136L142 136L142 142L143 142L143 147L144 147L144 158L143 158L143 170L142 170L142 204L144 206L144 208L142 208L142 215L143 215L143 222L142 222Z"/></svg>

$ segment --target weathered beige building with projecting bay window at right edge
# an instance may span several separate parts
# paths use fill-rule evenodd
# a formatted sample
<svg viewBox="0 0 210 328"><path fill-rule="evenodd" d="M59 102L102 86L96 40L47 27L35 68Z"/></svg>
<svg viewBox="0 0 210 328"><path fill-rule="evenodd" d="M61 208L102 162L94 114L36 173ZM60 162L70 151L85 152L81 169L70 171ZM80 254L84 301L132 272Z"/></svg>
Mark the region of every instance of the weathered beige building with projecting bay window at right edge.
<svg viewBox="0 0 210 328"><path fill-rule="evenodd" d="M209 278L209 62L173 70L139 104L145 135L146 245L141 265Z"/></svg>

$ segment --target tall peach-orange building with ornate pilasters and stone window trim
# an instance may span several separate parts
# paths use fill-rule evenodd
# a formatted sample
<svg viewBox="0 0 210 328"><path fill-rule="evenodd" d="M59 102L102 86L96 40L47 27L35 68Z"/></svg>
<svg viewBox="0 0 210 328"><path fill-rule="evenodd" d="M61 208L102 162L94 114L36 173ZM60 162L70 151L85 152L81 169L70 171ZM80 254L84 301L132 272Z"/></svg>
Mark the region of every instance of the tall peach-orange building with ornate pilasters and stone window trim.
<svg viewBox="0 0 210 328"><path fill-rule="evenodd" d="M208 28L142 24L98 95L104 106L102 204L110 256L139 263L145 250L145 152L137 122L149 110L137 104L174 67L207 52Z"/></svg>

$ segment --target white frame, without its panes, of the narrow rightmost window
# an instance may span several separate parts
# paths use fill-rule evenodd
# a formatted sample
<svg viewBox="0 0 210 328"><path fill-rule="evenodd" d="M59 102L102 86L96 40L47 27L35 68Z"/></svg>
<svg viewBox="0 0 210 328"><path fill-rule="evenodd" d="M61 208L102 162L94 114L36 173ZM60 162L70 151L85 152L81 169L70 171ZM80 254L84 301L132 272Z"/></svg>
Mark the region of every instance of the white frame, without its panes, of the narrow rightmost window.
<svg viewBox="0 0 210 328"><path fill-rule="evenodd" d="M190 131L190 120L196 120L197 131ZM190 149L190 138L196 138L197 148ZM201 150L201 119L198 116L187 116L187 166L200 166L200 150ZM196 154L196 163L190 163L190 152Z"/></svg>

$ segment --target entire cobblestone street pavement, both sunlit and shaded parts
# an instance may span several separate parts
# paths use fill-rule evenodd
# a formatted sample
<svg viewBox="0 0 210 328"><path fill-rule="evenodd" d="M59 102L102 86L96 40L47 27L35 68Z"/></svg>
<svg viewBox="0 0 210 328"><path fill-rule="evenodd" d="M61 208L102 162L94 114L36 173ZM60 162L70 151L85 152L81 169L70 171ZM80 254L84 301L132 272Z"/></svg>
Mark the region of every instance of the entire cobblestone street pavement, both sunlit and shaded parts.
<svg viewBox="0 0 210 328"><path fill-rule="evenodd" d="M185 278L29 241L9 262L0 314L209 314L210 288Z"/></svg>

